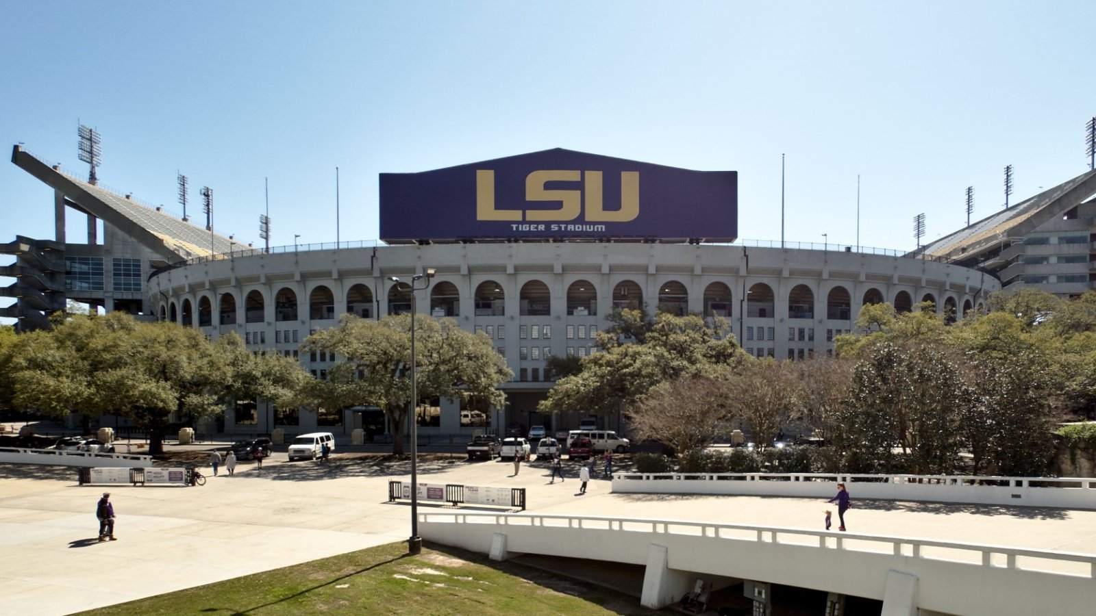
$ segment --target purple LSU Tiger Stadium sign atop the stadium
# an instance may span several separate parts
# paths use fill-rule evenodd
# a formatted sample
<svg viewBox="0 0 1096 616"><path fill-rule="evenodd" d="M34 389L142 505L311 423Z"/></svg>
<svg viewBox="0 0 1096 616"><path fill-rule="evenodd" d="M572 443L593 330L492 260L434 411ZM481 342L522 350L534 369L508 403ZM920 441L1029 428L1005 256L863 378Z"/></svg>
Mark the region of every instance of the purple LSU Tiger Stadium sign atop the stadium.
<svg viewBox="0 0 1096 616"><path fill-rule="evenodd" d="M380 174L380 239L731 242L737 171L690 171L553 149Z"/></svg>

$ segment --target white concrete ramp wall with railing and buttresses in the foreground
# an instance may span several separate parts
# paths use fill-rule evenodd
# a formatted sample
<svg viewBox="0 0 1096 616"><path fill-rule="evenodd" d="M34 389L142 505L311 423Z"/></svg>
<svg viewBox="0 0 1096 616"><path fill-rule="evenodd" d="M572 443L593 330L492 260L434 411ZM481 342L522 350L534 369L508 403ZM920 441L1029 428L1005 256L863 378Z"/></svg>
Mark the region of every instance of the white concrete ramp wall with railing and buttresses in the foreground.
<svg viewBox="0 0 1096 616"><path fill-rule="evenodd" d="M1088 614L1096 556L689 521L533 514L422 513L426 540L489 554L494 534L511 554L669 567L882 600L888 571L917 578L917 607L944 614ZM695 575L695 577L699 577ZM1048 602L1053 608L1048 612Z"/></svg>

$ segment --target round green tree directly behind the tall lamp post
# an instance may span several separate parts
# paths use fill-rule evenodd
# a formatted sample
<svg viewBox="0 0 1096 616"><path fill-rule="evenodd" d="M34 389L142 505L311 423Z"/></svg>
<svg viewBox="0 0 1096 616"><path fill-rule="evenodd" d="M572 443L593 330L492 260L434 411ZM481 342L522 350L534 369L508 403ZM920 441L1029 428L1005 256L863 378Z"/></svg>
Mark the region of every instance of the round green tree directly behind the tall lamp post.
<svg viewBox="0 0 1096 616"><path fill-rule="evenodd" d="M316 381L309 395L323 408L355 404L379 407L392 431L392 453L403 453L403 426L412 410L411 316L379 321L344 315L339 326L305 339L308 351L326 351L339 361L327 381ZM499 385L513 378L490 339L467 332L453 319L415 318L415 395L463 400L501 408Z"/></svg>

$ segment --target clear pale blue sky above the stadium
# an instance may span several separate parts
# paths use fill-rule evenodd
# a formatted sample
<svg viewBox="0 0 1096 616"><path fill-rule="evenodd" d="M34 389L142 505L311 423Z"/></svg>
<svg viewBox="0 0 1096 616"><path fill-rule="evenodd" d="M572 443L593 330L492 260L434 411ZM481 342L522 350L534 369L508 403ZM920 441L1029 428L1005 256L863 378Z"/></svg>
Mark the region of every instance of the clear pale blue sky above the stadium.
<svg viewBox="0 0 1096 616"><path fill-rule="evenodd" d="M50 238L12 145L272 246L378 237L377 174L562 147L737 170L739 236L914 248L1088 169L1096 2L0 0L0 241ZM73 233L70 231L70 239ZM78 237L78 236L77 236ZM7 284L7 283L4 283ZM7 301L0 300L7 304Z"/></svg>

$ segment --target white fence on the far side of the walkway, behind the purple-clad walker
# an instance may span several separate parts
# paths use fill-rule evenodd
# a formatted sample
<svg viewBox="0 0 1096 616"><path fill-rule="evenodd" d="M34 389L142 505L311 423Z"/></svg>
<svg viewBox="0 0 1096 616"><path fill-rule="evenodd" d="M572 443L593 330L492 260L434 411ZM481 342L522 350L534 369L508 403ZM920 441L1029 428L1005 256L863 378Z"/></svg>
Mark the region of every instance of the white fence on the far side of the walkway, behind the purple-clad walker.
<svg viewBox="0 0 1096 616"><path fill-rule="evenodd" d="M967 475L638 474L613 476L613 491L831 498L845 483L854 499L1096 510L1096 479Z"/></svg>

